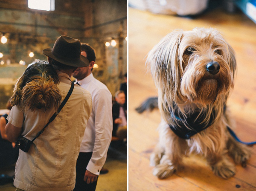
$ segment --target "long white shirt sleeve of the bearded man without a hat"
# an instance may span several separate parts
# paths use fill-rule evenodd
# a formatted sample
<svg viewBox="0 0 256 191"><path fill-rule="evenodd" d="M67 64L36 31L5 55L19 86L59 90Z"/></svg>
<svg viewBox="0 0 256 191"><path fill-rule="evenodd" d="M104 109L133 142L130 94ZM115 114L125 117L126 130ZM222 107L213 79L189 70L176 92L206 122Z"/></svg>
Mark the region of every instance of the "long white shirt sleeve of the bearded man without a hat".
<svg viewBox="0 0 256 191"><path fill-rule="evenodd" d="M95 142L93 155L87 165L87 170L99 175L106 158L111 142L112 122L112 95L107 89L99 90L93 98L95 112Z"/></svg>

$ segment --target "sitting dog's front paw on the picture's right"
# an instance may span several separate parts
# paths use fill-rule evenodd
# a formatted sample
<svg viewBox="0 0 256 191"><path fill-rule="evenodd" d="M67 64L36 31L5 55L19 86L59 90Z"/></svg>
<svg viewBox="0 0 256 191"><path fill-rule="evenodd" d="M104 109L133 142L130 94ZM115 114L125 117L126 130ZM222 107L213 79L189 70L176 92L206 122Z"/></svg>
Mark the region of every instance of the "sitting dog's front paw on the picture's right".
<svg viewBox="0 0 256 191"><path fill-rule="evenodd" d="M212 165L212 171L218 177L228 179L236 174L236 167L233 163L224 159L215 165Z"/></svg>

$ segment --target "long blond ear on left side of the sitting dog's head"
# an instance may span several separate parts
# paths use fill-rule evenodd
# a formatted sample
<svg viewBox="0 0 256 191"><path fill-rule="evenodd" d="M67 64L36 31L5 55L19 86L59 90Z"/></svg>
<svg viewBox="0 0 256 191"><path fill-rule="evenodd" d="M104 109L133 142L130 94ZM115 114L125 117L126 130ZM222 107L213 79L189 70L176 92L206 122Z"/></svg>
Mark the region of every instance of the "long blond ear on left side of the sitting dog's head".
<svg viewBox="0 0 256 191"><path fill-rule="evenodd" d="M172 101L180 96L180 78L183 67L179 46L182 37L182 30L169 33L153 47L146 60L158 88L159 100L164 102L164 96L166 96L166 109L172 107Z"/></svg>

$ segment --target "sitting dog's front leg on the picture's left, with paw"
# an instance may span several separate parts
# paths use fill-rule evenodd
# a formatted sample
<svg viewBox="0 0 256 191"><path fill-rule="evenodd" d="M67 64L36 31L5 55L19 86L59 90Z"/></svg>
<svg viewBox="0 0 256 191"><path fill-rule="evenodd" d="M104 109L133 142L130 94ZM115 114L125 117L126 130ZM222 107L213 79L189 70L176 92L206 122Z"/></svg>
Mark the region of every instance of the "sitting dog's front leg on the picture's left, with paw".
<svg viewBox="0 0 256 191"><path fill-rule="evenodd" d="M153 174L164 179L180 167L186 141L177 137L166 122L161 122L159 128L159 142L151 155L151 165L154 166Z"/></svg>

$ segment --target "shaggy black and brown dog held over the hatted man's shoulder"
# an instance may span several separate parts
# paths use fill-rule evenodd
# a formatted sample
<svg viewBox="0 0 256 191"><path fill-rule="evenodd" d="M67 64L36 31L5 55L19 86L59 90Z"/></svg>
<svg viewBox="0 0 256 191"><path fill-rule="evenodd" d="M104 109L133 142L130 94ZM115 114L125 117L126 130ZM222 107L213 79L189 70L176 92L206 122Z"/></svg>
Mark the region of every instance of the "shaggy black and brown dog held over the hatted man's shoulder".
<svg viewBox="0 0 256 191"><path fill-rule="evenodd" d="M15 84L11 97L12 106L19 105L23 111L50 109L57 111L61 104L61 93L55 69L46 61L36 60Z"/></svg>

